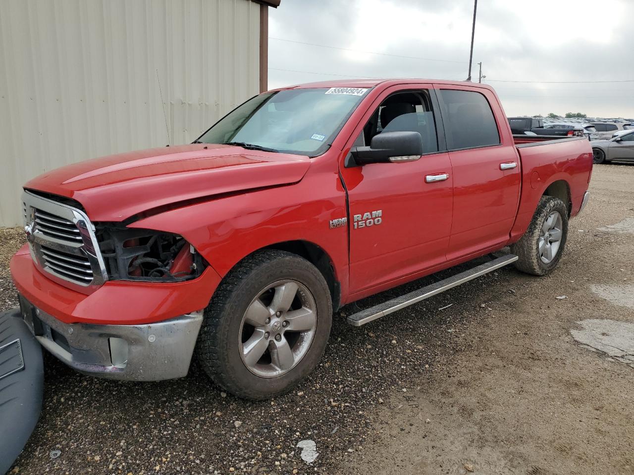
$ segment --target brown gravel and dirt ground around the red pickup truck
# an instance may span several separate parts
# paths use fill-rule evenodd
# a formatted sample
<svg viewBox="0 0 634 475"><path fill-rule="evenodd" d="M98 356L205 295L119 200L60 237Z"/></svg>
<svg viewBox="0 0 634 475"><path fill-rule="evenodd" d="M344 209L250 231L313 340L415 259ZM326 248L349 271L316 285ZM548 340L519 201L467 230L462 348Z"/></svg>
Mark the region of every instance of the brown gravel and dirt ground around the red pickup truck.
<svg viewBox="0 0 634 475"><path fill-rule="evenodd" d="M551 276L501 269L359 328L345 316L401 289L349 305L320 367L269 402L224 395L197 365L176 381L119 383L47 357L41 419L13 472L631 474L632 369L570 330L634 321L590 289L634 283L634 234L598 231L634 217L634 167L599 165L591 185ZM16 305L7 268L21 242L0 229L2 309Z"/></svg>

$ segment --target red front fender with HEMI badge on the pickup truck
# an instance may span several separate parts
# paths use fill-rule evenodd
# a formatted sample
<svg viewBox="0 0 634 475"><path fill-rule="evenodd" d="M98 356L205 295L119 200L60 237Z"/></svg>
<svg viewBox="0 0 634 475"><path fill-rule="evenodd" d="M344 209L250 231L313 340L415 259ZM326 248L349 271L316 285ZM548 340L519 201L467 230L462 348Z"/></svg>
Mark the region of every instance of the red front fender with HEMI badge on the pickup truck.
<svg viewBox="0 0 634 475"><path fill-rule="evenodd" d="M348 228L331 228L330 221L347 217L347 208L335 165L314 162L296 184L184 206L128 227L180 234L221 277L254 251L285 241L309 241L330 257L343 297L348 292Z"/></svg>

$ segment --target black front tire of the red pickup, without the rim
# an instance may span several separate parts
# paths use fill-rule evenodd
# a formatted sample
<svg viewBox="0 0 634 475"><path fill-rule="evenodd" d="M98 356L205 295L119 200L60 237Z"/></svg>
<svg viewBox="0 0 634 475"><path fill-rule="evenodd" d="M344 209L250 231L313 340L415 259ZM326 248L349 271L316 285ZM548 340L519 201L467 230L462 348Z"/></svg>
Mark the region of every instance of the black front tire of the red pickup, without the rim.
<svg viewBox="0 0 634 475"><path fill-rule="evenodd" d="M281 279L301 282L316 305L313 340L299 362L275 377L257 376L240 355L242 317L262 288ZM318 365L328 343L332 301L321 272L306 259L279 250L262 250L240 261L224 277L205 308L196 354L207 375L221 388L241 398L264 400L287 393Z"/></svg>

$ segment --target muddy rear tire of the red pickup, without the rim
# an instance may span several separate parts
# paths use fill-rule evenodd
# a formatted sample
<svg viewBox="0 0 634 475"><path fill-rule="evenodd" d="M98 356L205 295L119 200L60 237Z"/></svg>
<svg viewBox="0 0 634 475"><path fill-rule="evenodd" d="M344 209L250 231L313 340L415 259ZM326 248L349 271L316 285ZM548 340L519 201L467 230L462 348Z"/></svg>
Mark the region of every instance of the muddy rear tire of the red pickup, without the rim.
<svg viewBox="0 0 634 475"><path fill-rule="evenodd" d="M562 220L562 236L556 255L550 262L545 263L541 260L539 252L540 231L548 217L555 211L559 213ZM545 276L557 267L564 248L566 247L567 235L568 213L566 205L564 205L564 202L559 198L542 196L533 215L533 220L531 224L529 224L524 236L522 236L517 243L511 245L511 252L519 257L519 260L515 261L515 267L527 274Z"/></svg>

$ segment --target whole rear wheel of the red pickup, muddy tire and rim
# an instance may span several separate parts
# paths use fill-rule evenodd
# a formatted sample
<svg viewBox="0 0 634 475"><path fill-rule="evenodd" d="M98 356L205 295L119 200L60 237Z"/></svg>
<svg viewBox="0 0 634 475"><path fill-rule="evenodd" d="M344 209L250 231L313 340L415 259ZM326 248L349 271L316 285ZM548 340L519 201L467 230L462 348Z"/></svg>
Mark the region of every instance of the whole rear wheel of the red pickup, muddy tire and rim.
<svg viewBox="0 0 634 475"><path fill-rule="evenodd" d="M511 252L519 257L515 267L534 276L551 272L561 258L568 235L568 213L564 202L542 196L533 220Z"/></svg>

